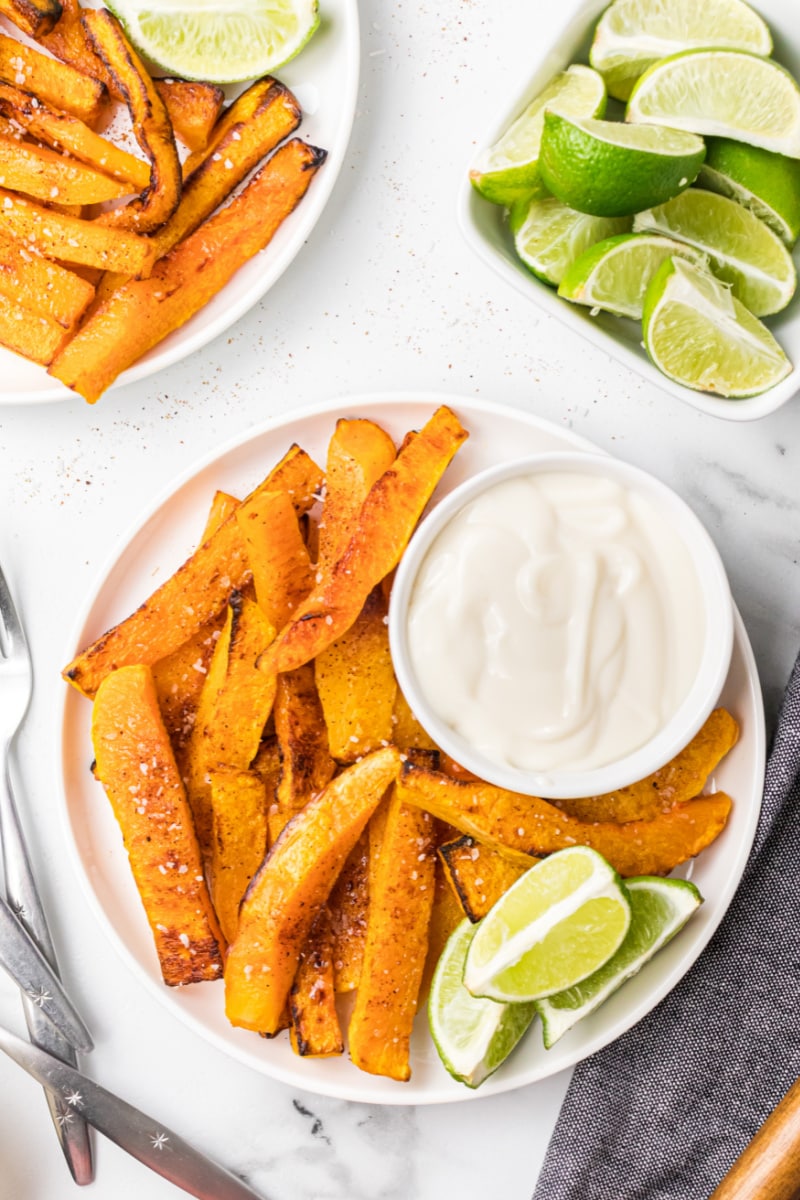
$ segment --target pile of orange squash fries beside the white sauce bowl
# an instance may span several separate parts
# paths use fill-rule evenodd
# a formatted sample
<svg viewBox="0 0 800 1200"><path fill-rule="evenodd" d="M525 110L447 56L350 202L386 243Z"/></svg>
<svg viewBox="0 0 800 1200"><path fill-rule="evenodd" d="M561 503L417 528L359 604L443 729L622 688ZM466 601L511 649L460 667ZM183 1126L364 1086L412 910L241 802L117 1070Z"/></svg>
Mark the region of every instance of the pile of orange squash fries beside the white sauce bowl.
<svg viewBox="0 0 800 1200"><path fill-rule="evenodd" d="M324 467L293 445L200 545L64 674L94 698L114 808L164 980L224 977L229 1020L410 1076L415 1013L446 937L536 857L594 846L668 872L726 824L700 794L736 740L715 712L672 763L606 797L492 787L440 752L395 679L392 572L467 438L443 407L399 448L341 419Z"/></svg>

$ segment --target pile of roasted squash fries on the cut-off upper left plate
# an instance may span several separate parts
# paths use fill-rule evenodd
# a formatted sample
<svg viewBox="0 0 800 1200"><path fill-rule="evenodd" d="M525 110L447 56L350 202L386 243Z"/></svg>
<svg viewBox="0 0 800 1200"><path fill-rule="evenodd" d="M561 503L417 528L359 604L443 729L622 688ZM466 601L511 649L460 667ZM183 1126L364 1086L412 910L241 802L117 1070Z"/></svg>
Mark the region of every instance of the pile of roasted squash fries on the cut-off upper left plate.
<svg viewBox="0 0 800 1200"><path fill-rule="evenodd" d="M325 151L285 140L301 110L273 78L223 108L151 78L104 8L0 14L42 47L0 32L0 344L95 402L266 247ZM144 158L97 132L113 103Z"/></svg>

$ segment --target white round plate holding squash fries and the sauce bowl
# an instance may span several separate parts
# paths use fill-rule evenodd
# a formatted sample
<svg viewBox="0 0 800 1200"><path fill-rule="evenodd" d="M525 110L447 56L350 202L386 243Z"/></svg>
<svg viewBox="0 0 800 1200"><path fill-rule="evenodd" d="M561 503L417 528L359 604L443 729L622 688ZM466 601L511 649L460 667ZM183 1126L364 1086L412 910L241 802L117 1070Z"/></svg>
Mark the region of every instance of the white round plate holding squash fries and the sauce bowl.
<svg viewBox="0 0 800 1200"><path fill-rule="evenodd" d="M450 404L470 431L437 496L476 470L547 450L596 448L546 421L515 409L434 394L360 396L337 400L290 419L248 431L215 451L162 496L125 539L100 575L65 653L73 654L126 617L180 565L197 542L216 488L245 496L296 442L325 462L337 416L371 416L396 440L419 428L440 403ZM435 497L434 497L435 502ZM137 895L110 805L90 774L91 704L65 689L62 785L67 842L89 901L118 950L169 1010L219 1049L296 1087L373 1104L439 1104L489 1096L543 1079L593 1054L634 1025L675 985L718 925L747 860L760 809L764 781L764 714L750 642L736 616L730 672L721 702L741 727L738 745L724 758L710 786L734 799L724 833L690 864L705 904L688 926L594 1016L576 1026L554 1049L542 1048L541 1030L530 1031L516 1054L477 1092L455 1082L440 1064L428 1037L425 1014L413 1040L411 1080L398 1084L360 1072L347 1056L299 1058L287 1033L272 1040L228 1025L222 983L167 988ZM703 997L698 996L698 1003Z"/></svg>

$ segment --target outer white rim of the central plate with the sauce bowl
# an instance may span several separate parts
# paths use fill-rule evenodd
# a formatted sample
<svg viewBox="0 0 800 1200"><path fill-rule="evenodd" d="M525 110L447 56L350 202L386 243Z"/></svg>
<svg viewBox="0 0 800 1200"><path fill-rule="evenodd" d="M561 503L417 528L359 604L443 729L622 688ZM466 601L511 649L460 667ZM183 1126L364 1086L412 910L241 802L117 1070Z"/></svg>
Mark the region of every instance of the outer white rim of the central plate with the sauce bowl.
<svg viewBox="0 0 800 1200"><path fill-rule="evenodd" d="M480 413L482 415L494 415L498 410L501 410L506 416L518 420L519 422L531 426L534 428L541 430L551 436L558 436L564 438L572 445L585 449L588 452L601 452L606 454L602 448L584 438L579 433L575 433L572 430L560 428L553 421L539 416L537 414L530 413L527 409L517 409L509 404L499 404L495 402L483 401L479 398L471 398L462 396L458 394L439 392L439 391L402 391L402 392L359 392L359 394L343 394L336 397L329 398L317 404L305 406L302 409L284 413L279 416L271 418L267 421L263 421L257 426L252 426L248 430L241 431L240 433L231 437L222 446L218 446L211 451L207 451L187 468L185 468L175 479L173 479L166 487L163 487L158 496L139 514L130 527L116 536L103 557L103 560L97 570L92 583L86 590L86 599L80 607L80 611L74 619L68 635L67 647L65 650L65 658L62 661L70 661L76 653L76 648L79 648L84 643L84 630L88 624L91 611L97 604L104 583L107 582L110 572L116 566L118 562L125 554L126 548L137 538L137 535L144 529L148 522L155 517L158 510L175 494L178 494L186 485L191 484L193 479L200 475L203 472L207 470L216 462L225 458L229 454L236 451L237 449L247 445L251 442L257 440L270 433L279 432L285 430L290 434L291 427L295 422L303 421L307 419L325 418L333 414L343 415L348 412L362 412L366 409L375 410L378 414L381 409L392 408L395 409L398 404L409 406L426 406L432 409L439 404L450 404L457 410L462 410L467 419L469 419L470 409L473 412ZM736 650L741 654L744 660L745 674L747 679L748 691L752 694L754 707L757 708L758 720L754 722L756 727L752 731L753 736L753 760L754 760L754 775L763 780L766 766L766 725L763 707L763 698L760 691L760 683L758 677L758 668L756 659L753 655L752 646L747 636L746 628L741 619L741 616L734 604L734 655ZM559 1060L558 1066L553 1066L552 1069L547 1069L547 1062L543 1064L543 1069L534 1068L529 1070L524 1078L510 1078L506 1079L501 1073L492 1076L486 1081L485 1085L477 1091L470 1091L464 1088L462 1094L461 1091L453 1092L447 1085L452 1081L450 1076L443 1079L441 1087L435 1090L429 1090L426 1094L415 1093L413 1096L408 1092L403 1093L403 1088L407 1088L405 1084L396 1084L397 1093L381 1092L379 1094L363 1094L363 1088L359 1087L354 1080L353 1085L343 1082L342 1080L331 1080L329 1085L326 1081L319 1079L303 1079L302 1075L299 1076L296 1069L288 1069L283 1067L279 1062L269 1062L265 1060L255 1061L252 1054L245 1048L243 1043L240 1045L239 1042L231 1043L217 1033L215 1030L209 1028L209 1026L198 1018L194 1013L186 1008L180 1008L170 1003L172 989L166 988L166 985L156 979L154 976L146 973L139 960L137 959L134 952L128 948L122 936L118 932L114 926L109 914L103 908L100 896L96 894L95 888L91 883L89 870L85 866L80 851L78 847L78 841L73 832L72 822L70 818L70 802L68 802L68 790L67 790L67 757L73 752L73 748L68 744L66 731L67 722L70 720L70 712L72 706L80 703L83 697L70 688L65 686L61 702L55 707L55 738L59 746L59 754L55 758L55 785L56 794L59 796L59 821L61 823L61 829L65 835L67 856L72 864L72 868L78 876L78 883L82 894L90 910L98 920L101 928L103 929L104 936L108 938L110 944L114 947L115 952L120 955L122 961L127 965L131 972L134 974L137 980L150 991L152 996L160 1002L163 1010L169 1013L174 1019L179 1020L181 1024L186 1025L194 1033L197 1033L204 1042L213 1045L217 1050L222 1051L228 1057L248 1067L251 1070L255 1070L267 1078L276 1079L279 1082L290 1085L293 1087L301 1087L306 1091L319 1094L329 1096L337 1099L355 1100L357 1103L368 1104L380 1104L390 1106L409 1106L409 1105L428 1105L428 1104L449 1104L449 1103L462 1103L471 1099L482 1099L493 1094L501 1094L505 1092L516 1091L521 1087L529 1086L535 1082L541 1082L561 1070L573 1067L577 1062L583 1058L589 1057L597 1050L612 1042L616 1040L626 1030L634 1026L646 1013L654 1009L661 1000L667 996L674 986L684 978L688 972L693 962L702 954L702 952L708 946L709 941L716 932L720 923L724 918L724 914L733 900L733 896L739 887L741 875L747 864L750 857L750 851L756 836L756 829L758 824L758 818L760 815L762 803L763 803L763 790L762 794L757 796L754 802L748 806L748 821L740 835L739 841L735 844L735 852L732 856L732 863L729 864L728 874L726 877L726 886L717 892L715 902L718 907L718 913L715 919L706 923L706 925L698 930L696 934L694 942L687 953L682 955L680 962L673 967L669 972L664 974L664 978L654 988L651 988L645 996L640 998L638 1003L634 1003L631 1009L626 1009L618 1020L612 1025L610 1030L602 1028L599 1030L594 1038L591 1038L587 1044L576 1045L571 1052ZM300 1062L300 1061L299 1061ZM366 1076L367 1080L372 1076ZM360 1081L360 1080L359 1080ZM383 1084L391 1082L381 1080ZM366 1085L368 1086L368 1084Z"/></svg>

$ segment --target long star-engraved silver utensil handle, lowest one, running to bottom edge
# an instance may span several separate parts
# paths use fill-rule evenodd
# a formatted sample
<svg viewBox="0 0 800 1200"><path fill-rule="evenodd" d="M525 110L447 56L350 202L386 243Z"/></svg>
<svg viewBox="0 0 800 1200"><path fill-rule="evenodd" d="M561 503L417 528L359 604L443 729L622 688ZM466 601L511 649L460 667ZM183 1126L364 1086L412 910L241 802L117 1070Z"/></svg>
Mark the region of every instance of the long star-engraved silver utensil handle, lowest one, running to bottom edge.
<svg viewBox="0 0 800 1200"><path fill-rule="evenodd" d="M1 1026L0 1050L58 1097L64 1122L79 1115L151 1171L198 1200L264 1200L167 1126Z"/></svg>

